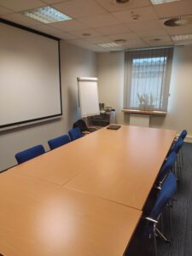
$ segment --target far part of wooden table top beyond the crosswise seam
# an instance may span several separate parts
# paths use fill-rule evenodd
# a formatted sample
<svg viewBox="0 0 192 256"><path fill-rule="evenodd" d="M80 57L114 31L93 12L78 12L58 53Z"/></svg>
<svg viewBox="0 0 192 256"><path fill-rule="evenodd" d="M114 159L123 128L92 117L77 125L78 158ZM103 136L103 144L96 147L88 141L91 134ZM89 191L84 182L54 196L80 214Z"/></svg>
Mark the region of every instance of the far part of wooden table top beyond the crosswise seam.
<svg viewBox="0 0 192 256"><path fill-rule="evenodd" d="M11 169L11 172L20 172L24 175L38 177L44 181L55 184L67 184L71 188L84 190L88 193L90 193L92 189L94 190L95 185L96 187L97 185L100 186L100 182L104 185L108 183L108 189L110 189L111 186L112 188L115 186L117 189L119 195L117 195L117 198L116 196L112 196L112 198L111 195L109 196L109 198L114 201L119 201L121 194L124 194L125 191L128 193L131 191L132 194L132 189L136 188L134 179L137 179L141 173L144 174L146 172L148 173L149 180L147 181L145 176L141 176L141 184L139 185L139 183L137 183L137 186L139 186L138 189L143 189L143 186L147 186L146 193L142 195L143 198L146 199L148 190L151 188L157 172L160 170L160 166L166 157L166 153L175 135L176 131L129 125L122 125L118 131L102 128L72 143L68 143L67 145L49 151L19 166L15 166ZM97 169L99 172L96 171ZM92 176L91 172L96 172L98 175L102 172L106 177L106 183L98 176L99 183L93 184L94 186L92 188L90 186L91 180L90 183L87 183L86 177L84 177L84 171L87 171L88 176ZM82 177L81 184L79 184L78 181L79 176L77 180L73 179L78 174L82 175L80 176L80 179ZM116 176L118 176L119 179L115 181ZM90 179L90 177L88 178ZM93 183L94 178L92 179ZM124 178L125 180L123 180ZM72 183L70 183L71 180ZM120 188L120 190L122 190L122 192L118 192L118 184L121 183L122 188ZM81 188L82 185L83 189ZM87 186L90 186L90 189L87 188ZM114 191L109 193L117 194ZM103 196L106 197L105 195ZM123 197L125 197L125 195ZM135 199L133 198L131 201L135 201ZM119 202L133 206L131 201L129 200L127 202L127 200L122 199ZM139 202L139 206L134 207L141 209L143 199L141 201L142 202Z"/></svg>

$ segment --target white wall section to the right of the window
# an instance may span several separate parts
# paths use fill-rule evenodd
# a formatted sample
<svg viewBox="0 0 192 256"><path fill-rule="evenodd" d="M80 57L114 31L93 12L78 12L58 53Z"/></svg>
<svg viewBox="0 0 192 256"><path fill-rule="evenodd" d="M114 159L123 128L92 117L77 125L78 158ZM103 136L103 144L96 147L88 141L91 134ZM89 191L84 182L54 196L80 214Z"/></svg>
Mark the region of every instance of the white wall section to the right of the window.
<svg viewBox="0 0 192 256"><path fill-rule="evenodd" d="M192 135L192 45L174 49L170 97L166 118L153 118L151 126L183 128Z"/></svg>

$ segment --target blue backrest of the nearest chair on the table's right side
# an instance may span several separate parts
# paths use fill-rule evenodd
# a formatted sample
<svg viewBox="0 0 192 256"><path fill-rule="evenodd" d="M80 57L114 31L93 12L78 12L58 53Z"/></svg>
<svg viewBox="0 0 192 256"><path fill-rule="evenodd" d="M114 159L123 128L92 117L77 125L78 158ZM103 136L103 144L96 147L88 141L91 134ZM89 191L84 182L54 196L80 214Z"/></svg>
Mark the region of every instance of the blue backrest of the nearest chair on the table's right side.
<svg viewBox="0 0 192 256"><path fill-rule="evenodd" d="M150 218L157 219L160 213L163 211L163 208L166 206L166 203L170 201L172 196L175 194L177 189L177 182L176 182L176 177L174 173L170 173L163 185L162 188L160 189L160 192L157 196L157 200L154 204L154 207L149 215Z"/></svg>

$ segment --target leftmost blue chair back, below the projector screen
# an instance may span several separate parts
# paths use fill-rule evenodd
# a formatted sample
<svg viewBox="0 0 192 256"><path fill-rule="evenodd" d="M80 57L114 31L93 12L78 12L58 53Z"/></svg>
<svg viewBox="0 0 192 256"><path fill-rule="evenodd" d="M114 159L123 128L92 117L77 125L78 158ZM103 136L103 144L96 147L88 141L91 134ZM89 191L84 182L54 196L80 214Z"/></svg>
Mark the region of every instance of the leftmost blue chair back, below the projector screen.
<svg viewBox="0 0 192 256"><path fill-rule="evenodd" d="M38 155L41 155L44 153L45 153L44 146L37 145L15 154L15 159L17 160L18 164L21 164L26 162L27 160L31 160L32 158L35 158Z"/></svg>

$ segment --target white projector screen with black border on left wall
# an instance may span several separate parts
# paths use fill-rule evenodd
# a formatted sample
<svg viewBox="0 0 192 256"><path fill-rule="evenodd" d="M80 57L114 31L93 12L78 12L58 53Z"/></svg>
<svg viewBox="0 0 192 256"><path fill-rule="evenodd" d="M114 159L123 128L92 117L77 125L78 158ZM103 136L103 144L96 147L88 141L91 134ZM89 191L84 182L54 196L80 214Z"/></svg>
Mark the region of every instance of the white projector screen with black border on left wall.
<svg viewBox="0 0 192 256"><path fill-rule="evenodd" d="M59 39L0 22L0 129L61 114Z"/></svg>

